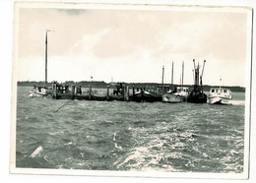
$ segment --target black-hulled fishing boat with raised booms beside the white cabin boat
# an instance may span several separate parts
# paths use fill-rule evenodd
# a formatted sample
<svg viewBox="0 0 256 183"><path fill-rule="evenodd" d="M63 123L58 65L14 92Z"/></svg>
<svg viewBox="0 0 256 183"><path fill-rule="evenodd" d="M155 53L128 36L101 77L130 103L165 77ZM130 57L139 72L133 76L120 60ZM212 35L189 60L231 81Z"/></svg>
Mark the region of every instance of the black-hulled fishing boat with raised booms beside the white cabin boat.
<svg viewBox="0 0 256 183"><path fill-rule="evenodd" d="M207 95L203 91L203 84L202 84L202 78L203 78L203 73L204 73L204 68L205 68L205 60L204 60L204 65L203 65L203 70L202 74L200 76L200 85L199 85L199 63L198 66L195 66L195 59L193 60L194 62L194 86L192 91L188 94L187 96L187 102L190 103L206 103L207 102Z"/></svg>

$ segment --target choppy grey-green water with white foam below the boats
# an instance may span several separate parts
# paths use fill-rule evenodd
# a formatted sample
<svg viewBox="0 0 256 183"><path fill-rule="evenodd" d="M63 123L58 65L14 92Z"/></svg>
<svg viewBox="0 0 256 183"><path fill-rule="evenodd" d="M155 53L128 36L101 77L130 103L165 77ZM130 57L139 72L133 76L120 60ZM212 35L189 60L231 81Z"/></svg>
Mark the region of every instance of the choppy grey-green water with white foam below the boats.
<svg viewBox="0 0 256 183"><path fill-rule="evenodd" d="M18 88L17 167L243 171L243 102L54 100L30 90Z"/></svg>

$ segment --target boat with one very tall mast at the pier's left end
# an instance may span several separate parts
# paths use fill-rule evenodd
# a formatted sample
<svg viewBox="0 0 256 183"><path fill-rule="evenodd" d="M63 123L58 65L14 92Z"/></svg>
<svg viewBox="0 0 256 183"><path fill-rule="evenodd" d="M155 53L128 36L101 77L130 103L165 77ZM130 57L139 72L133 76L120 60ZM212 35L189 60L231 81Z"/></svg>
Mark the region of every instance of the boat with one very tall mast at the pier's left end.
<svg viewBox="0 0 256 183"><path fill-rule="evenodd" d="M47 32L52 30L46 30L45 35L45 84L44 86L34 86L32 91L30 91L30 97L37 97L37 96L49 96L52 93L52 90L47 87Z"/></svg>

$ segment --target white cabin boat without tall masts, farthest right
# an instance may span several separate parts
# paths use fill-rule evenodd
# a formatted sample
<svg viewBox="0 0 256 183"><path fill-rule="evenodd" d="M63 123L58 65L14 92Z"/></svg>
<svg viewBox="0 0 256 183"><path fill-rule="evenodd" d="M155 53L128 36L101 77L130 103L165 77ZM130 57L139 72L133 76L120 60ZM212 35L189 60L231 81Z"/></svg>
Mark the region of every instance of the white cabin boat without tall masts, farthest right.
<svg viewBox="0 0 256 183"><path fill-rule="evenodd" d="M225 88L212 88L210 90L209 103L211 104L230 104L232 99L232 92L230 89Z"/></svg>

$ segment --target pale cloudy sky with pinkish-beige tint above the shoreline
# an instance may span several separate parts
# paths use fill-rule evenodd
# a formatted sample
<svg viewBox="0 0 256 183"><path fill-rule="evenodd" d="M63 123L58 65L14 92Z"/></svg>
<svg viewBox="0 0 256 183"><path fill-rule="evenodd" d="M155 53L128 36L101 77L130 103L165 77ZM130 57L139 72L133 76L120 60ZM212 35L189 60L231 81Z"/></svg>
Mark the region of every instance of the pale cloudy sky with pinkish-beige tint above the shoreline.
<svg viewBox="0 0 256 183"><path fill-rule="evenodd" d="M21 8L18 81L193 84L193 59L203 84L245 87L248 14L237 11ZM222 83L220 83L222 79Z"/></svg>

